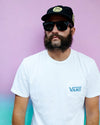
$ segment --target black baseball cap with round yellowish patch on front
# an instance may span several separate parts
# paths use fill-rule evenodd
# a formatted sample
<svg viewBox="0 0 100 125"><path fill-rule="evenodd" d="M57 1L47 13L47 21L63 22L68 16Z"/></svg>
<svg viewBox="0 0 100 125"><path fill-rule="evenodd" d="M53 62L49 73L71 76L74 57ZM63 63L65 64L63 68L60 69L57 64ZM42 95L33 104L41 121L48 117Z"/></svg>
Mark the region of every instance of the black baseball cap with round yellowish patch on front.
<svg viewBox="0 0 100 125"><path fill-rule="evenodd" d="M47 13L41 17L41 20L47 21L50 16L61 15L68 19L68 21L74 26L74 14L73 10L68 6L57 5L47 10Z"/></svg>

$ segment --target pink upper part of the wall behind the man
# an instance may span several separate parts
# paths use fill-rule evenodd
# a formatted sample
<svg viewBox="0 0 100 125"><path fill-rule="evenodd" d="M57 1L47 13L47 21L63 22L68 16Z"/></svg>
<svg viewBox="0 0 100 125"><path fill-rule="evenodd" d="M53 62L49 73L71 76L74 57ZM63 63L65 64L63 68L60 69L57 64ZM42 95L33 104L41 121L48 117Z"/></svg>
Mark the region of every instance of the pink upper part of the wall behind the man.
<svg viewBox="0 0 100 125"><path fill-rule="evenodd" d="M9 93L22 59L43 46L41 16L48 7L73 8L72 48L95 59L100 69L100 0L0 0L0 93Z"/></svg>

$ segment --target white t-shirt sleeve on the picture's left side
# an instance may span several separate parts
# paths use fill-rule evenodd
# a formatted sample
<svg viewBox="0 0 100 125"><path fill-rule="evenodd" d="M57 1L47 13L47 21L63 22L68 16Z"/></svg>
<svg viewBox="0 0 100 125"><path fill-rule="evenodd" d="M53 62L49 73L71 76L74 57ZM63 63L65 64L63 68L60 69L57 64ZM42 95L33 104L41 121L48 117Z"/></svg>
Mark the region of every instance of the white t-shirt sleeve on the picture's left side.
<svg viewBox="0 0 100 125"><path fill-rule="evenodd" d="M11 88L11 92L21 97L29 97L28 72L24 61L20 64Z"/></svg>

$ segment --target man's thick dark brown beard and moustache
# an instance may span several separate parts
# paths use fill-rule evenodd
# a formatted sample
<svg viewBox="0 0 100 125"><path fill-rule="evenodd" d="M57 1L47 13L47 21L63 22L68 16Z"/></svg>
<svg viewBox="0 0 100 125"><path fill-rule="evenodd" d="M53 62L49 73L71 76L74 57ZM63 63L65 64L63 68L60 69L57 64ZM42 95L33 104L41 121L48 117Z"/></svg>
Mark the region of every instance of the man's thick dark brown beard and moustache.
<svg viewBox="0 0 100 125"><path fill-rule="evenodd" d="M54 36L57 36L60 39L59 44L52 43L52 39ZM47 37L47 34L45 33L45 36L44 36L44 45L45 45L45 48L49 51L61 50L62 52L64 52L69 47L71 47L72 41L73 41L73 38L72 38L71 31L67 37L58 35L58 33L52 34L50 37Z"/></svg>

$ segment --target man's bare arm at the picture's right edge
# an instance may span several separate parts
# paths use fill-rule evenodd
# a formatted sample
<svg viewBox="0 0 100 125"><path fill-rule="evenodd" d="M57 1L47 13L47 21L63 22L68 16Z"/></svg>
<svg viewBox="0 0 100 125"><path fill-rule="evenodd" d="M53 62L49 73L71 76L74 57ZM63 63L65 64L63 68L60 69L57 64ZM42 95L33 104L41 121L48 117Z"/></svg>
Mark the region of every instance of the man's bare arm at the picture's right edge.
<svg viewBox="0 0 100 125"><path fill-rule="evenodd" d="M99 96L85 99L86 125L99 125Z"/></svg>

